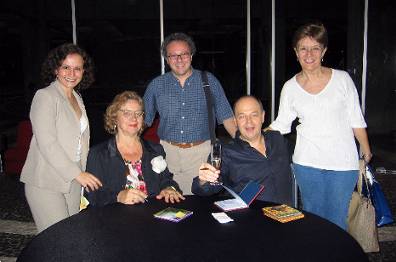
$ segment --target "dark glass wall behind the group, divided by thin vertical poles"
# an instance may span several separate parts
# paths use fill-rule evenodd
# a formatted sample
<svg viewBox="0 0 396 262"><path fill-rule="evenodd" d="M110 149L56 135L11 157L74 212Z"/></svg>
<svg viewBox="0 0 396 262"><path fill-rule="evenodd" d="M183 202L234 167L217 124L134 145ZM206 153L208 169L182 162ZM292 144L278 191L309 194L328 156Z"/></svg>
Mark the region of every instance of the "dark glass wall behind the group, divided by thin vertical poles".
<svg viewBox="0 0 396 262"><path fill-rule="evenodd" d="M301 24L321 20L329 31L324 64L347 70L361 91L364 0L276 1L276 96L300 68L291 36ZM369 1L366 119L370 134L396 130L396 27L394 1ZM252 94L271 108L271 1L252 0ZM103 140L102 114L115 94L140 94L160 74L159 1L76 0L78 43L96 62L97 81L83 93L93 143ZM233 103L246 89L246 1L164 1L165 35L183 31L196 41L193 66L212 71ZM0 130L28 117L49 49L72 41L69 0L0 3Z"/></svg>

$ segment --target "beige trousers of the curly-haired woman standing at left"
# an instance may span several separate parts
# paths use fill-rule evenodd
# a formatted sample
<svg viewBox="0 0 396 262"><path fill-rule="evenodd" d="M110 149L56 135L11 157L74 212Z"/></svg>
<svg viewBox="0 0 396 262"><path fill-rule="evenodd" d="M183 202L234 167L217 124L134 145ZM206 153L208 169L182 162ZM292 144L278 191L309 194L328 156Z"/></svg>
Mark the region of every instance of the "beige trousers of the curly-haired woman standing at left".
<svg viewBox="0 0 396 262"><path fill-rule="evenodd" d="M37 231L77 214L80 209L81 185L73 180L67 194L25 184L25 195Z"/></svg>

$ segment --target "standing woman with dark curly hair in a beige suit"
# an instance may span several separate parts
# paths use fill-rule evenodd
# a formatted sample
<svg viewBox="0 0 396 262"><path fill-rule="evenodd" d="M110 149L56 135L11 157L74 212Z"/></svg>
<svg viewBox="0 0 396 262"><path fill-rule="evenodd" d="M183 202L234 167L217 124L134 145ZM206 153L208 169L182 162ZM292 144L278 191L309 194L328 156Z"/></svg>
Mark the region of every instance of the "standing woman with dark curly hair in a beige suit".
<svg viewBox="0 0 396 262"><path fill-rule="evenodd" d="M84 50L63 44L43 63L43 89L30 109L33 137L21 181L38 232L78 213L81 186L102 184L84 172L89 148L89 123L78 89L94 80L93 64Z"/></svg>

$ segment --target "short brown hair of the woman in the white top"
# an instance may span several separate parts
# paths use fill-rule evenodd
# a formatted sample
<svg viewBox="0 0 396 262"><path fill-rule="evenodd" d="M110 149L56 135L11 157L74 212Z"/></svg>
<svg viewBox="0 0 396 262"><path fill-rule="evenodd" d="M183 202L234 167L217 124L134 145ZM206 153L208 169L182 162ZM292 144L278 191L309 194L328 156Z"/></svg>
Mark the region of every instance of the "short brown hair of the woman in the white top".
<svg viewBox="0 0 396 262"><path fill-rule="evenodd" d="M323 48L327 47L327 30L321 22L311 22L300 26L293 36L293 48L297 48L298 42L304 37L315 39Z"/></svg>

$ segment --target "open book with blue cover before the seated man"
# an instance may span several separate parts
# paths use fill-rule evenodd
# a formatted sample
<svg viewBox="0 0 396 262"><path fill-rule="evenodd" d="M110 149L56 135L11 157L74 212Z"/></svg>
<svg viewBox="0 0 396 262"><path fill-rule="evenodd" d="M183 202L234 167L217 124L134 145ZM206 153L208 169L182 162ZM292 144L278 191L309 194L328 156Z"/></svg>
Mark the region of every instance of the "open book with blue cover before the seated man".
<svg viewBox="0 0 396 262"><path fill-rule="evenodd" d="M224 211L248 208L254 199L264 190L264 186L254 181L250 181L237 194L231 188L223 185L223 187L234 197L222 201L216 201L214 204Z"/></svg>

